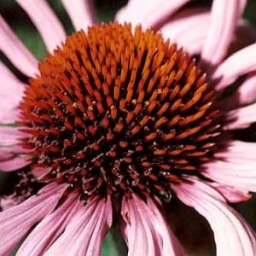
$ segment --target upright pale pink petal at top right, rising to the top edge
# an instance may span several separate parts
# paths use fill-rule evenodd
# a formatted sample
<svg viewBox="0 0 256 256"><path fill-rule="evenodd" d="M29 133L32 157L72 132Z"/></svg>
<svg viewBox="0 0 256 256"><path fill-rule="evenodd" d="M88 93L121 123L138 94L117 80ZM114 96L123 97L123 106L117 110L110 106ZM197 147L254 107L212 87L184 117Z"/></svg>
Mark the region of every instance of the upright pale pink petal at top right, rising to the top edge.
<svg viewBox="0 0 256 256"><path fill-rule="evenodd" d="M201 52L202 61L215 66L224 59L240 18L240 8L240 1L213 1L211 26Z"/></svg>

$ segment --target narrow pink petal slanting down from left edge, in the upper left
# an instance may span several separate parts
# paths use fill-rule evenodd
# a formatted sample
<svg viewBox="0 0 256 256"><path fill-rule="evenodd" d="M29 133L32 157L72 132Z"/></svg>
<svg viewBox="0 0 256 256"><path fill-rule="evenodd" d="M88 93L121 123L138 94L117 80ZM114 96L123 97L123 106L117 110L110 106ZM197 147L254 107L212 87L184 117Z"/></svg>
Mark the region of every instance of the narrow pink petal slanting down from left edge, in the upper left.
<svg viewBox="0 0 256 256"><path fill-rule="evenodd" d="M15 33L10 29L3 17L0 15L0 50L3 51L10 61L20 72L27 76L38 73L38 61L32 53L26 49Z"/></svg>

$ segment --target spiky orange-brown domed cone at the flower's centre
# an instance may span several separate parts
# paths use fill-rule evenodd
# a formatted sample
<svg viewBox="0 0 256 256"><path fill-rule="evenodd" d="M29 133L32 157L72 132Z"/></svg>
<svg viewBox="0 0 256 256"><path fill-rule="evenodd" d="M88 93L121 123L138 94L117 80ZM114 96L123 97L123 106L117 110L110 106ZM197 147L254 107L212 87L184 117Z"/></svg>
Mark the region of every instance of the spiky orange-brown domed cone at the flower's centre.
<svg viewBox="0 0 256 256"><path fill-rule="evenodd" d="M218 133L195 61L151 30L112 23L67 38L39 64L20 104L22 145L44 181L86 197L147 193L199 172ZM26 126L24 128L24 126Z"/></svg>

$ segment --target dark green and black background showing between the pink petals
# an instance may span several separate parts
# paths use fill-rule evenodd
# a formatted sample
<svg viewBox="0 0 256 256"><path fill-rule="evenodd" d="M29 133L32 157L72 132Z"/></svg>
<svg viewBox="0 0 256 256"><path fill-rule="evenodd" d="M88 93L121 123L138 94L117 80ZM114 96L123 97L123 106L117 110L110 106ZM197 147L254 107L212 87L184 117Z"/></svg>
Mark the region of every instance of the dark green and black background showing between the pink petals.
<svg viewBox="0 0 256 256"><path fill-rule="evenodd" d="M35 0L37 1L37 0ZM72 0L71 0L72 1ZM76 1L76 0L74 0ZM143 1L143 0L142 0ZM166 0L170 1L170 0ZM175 1L175 0L173 0ZM235 1L235 0L234 0ZM62 24L64 24L68 33L73 32L73 27L67 16L67 13L62 8L61 1L51 0L48 1L49 4L55 9L55 13L59 16ZM96 14L98 20L108 21L113 19L113 15L116 10L125 4L125 0L96 0L94 4L96 6ZM145 1L145 4L147 1ZM38 58L42 60L46 54L46 49L42 42L42 39L27 15L22 9L15 3L14 0L1 0L0 1L0 13L12 26L15 33L20 37L20 39L26 44L28 49ZM247 20L250 20L256 26L256 0L250 0L247 5L247 10L245 13ZM1 38L0 38L1 39ZM255 56L256 57L256 56ZM0 58L9 64L9 61L0 54ZM244 132L245 134L245 132ZM246 136L241 134L241 137L248 141L256 141L256 127L253 126L246 131ZM0 192L3 187L9 185L7 183L7 175L0 174ZM1 189L2 188L2 189ZM236 209L241 212L247 221L253 225L256 229L256 199L242 203L236 206ZM183 214L184 210L189 212L189 218L186 214ZM207 223L202 220L198 214L189 209L181 207L178 202L173 202L170 207L170 222L172 224L173 230L177 233L178 238L186 244L186 247L191 249L192 255L211 255L214 253L206 253L204 249L209 250L212 248L212 232L209 230ZM176 221L177 219L177 221ZM204 226L204 228L201 228ZM200 227L200 228L199 228ZM136 236L136 234L135 234ZM189 241L191 240L191 241ZM212 248L212 252L214 248ZM13 253L14 254L14 253ZM125 247L123 241L120 239L120 235L116 228L110 232L103 242L103 255L104 256L117 256L125 255Z"/></svg>

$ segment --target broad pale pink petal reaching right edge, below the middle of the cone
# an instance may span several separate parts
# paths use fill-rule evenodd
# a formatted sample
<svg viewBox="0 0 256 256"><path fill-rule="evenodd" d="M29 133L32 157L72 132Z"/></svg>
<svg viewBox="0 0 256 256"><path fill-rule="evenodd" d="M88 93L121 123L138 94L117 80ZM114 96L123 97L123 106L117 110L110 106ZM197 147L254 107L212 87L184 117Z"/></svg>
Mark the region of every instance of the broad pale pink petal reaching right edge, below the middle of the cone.
<svg viewBox="0 0 256 256"><path fill-rule="evenodd" d="M202 172L218 183L256 191L256 145L234 141L229 148L215 154L219 160L207 163Z"/></svg>

